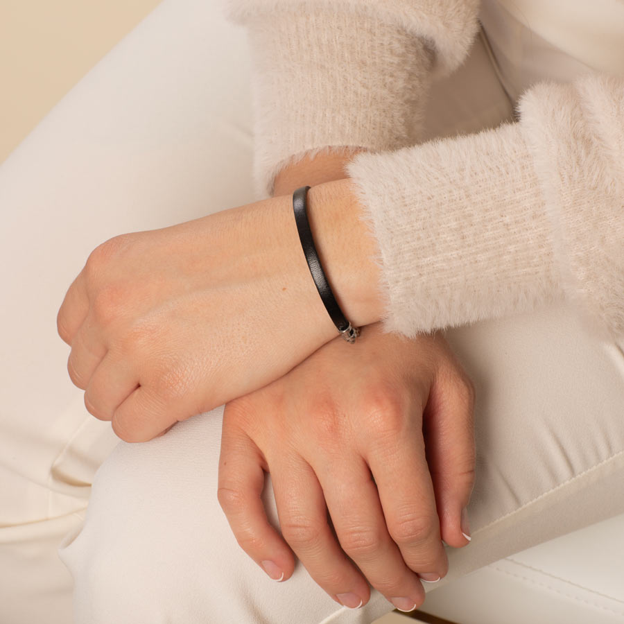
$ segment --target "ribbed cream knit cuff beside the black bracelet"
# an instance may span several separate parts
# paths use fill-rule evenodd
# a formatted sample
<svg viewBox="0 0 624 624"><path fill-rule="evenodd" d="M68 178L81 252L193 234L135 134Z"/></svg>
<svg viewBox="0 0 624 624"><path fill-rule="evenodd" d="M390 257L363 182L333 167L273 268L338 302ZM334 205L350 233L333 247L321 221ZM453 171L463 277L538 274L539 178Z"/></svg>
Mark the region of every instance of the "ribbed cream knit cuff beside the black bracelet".
<svg viewBox="0 0 624 624"><path fill-rule="evenodd" d="M412 337L563 297L517 124L361 153L347 171L379 245L384 331Z"/></svg>

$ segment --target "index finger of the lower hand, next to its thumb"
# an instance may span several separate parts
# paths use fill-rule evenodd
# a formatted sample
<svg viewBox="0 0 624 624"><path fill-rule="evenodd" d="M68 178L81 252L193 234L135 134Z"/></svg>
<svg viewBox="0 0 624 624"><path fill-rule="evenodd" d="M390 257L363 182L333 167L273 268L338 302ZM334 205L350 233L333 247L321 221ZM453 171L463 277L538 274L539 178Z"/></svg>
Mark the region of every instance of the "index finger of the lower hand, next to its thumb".
<svg viewBox="0 0 624 624"><path fill-rule="evenodd" d="M407 566L423 580L447 574L449 562L440 538L433 483L422 437L422 413L396 419L402 426L376 436L365 459L374 476L388 532ZM391 423L391 419L388 419Z"/></svg>

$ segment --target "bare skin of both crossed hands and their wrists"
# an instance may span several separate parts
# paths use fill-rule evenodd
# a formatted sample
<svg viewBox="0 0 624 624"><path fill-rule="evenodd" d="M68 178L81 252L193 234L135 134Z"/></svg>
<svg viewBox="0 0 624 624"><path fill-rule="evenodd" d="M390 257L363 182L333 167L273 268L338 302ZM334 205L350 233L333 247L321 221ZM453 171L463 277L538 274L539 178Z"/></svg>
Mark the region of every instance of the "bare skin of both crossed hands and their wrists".
<svg viewBox="0 0 624 624"><path fill-rule="evenodd" d="M366 603L368 580L409 610L424 600L416 573L447 573L440 538L467 544L474 392L440 334L379 331L375 243L346 159L286 168L269 200L105 241L57 324L87 410L127 442L226 404L219 501L254 560L287 579L294 551L337 602ZM291 204L302 184L333 292L363 328L354 345L336 337L302 254ZM283 537L259 502L263 471Z"/></svg>

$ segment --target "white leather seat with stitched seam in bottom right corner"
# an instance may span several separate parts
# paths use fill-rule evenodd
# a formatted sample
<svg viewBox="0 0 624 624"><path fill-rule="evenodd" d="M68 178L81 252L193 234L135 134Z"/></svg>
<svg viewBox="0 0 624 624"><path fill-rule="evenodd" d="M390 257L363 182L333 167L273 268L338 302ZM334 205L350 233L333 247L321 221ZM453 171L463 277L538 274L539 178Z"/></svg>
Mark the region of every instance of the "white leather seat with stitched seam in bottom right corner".
<svg viewBox="0 0 624 624"><path fill-rule="evenodd" d="M622 623L624 514L431 591L420 610L460 624Z"/></svg>

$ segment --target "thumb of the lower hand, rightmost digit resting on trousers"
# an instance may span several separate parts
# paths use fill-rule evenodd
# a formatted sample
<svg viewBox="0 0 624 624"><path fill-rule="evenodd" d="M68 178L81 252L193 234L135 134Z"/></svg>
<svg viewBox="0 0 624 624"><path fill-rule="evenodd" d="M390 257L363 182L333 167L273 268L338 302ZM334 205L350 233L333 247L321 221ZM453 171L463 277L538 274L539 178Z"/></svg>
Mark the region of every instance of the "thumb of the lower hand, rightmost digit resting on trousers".
<svg viewBox="0 0 624 624"><path fill-rule="evenodd" d="M474 389L456 374L436 378L424 412L423 433L442 539L455 548L470 541L467 511L474 487ZM463 517L462 517L463 512Z"/></svg>

